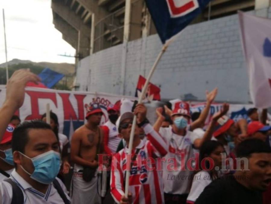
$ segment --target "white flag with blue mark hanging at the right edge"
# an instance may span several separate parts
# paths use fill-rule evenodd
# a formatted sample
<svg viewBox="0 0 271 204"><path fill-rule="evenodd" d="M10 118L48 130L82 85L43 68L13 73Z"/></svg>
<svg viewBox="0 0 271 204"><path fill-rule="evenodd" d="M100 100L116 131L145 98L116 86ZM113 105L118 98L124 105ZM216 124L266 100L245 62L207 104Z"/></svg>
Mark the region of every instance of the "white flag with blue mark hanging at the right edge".
<svg viewBox="0 0 271 204"><path fill-rule="evenodd" d="M271 20L239 12L250 95L258 108L271 107Z"/></svg>

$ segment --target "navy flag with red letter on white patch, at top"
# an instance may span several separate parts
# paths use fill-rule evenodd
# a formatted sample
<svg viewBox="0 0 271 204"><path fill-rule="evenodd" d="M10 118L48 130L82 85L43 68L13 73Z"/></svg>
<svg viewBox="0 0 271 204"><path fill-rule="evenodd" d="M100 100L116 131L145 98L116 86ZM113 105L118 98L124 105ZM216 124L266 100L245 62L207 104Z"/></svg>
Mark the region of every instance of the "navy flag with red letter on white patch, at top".
<svg viewBox="0 0 271 204"><path fill-rule="evenodd" d="M180 33L210 0L145 0L163 44Z"/></svg>

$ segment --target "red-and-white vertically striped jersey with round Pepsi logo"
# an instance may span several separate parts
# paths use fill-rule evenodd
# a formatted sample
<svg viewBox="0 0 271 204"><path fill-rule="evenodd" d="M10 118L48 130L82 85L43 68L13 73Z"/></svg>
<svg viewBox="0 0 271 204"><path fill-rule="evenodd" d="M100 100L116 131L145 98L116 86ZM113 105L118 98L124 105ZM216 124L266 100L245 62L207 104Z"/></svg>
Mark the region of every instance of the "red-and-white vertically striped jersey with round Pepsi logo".
<svg viewBox="0 0 271 204"><path fill-rule="evenodd" d="M145 144L141 140L140 144L132 150L132 154L129 156L127 155L127 147L113 156L110 187L111 194L117 203L120 202L121 196L124 195L126 161L134 157L136 149L139 149L139 151L136 160L132 163L129 178L129 192L132 193L133 203L164 203L162 177L161 172L156 168L156 163L158 159L161 159L160 157L167 154L168 146L150 124L145 125L144 131L148 138Z"/></svg>

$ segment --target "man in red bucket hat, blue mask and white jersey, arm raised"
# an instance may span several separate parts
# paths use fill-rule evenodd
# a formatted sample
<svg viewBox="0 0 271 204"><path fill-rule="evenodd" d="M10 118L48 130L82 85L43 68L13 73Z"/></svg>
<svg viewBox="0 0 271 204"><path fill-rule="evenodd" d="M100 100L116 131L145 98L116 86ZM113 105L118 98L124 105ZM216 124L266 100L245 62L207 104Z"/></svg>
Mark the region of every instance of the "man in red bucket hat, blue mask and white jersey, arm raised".
<svg viewBox="0 0 271 204"><path fill-rule="evenodd" d="M212 100L207 101L210 107ZM208 109L209 111L209 109ZM205 112L208 112L205 111ZM169 144L169 152L163 158L163 181L165 203L185 204L193 180L195 161L193 147L199 149L204 141L210 140L216 121L228 111L228 104L213 117L209 127L201 138L192 130L195 123L189 125L190 108L186 102L175 105L171 113L173 124L169 128L160 128L160 134ZM204 119L205 120L205 119ZM203 120L203 121L204 121ZM192 162L194 160L194 163ZM190 165L190 167L188 167Z"/></svg>

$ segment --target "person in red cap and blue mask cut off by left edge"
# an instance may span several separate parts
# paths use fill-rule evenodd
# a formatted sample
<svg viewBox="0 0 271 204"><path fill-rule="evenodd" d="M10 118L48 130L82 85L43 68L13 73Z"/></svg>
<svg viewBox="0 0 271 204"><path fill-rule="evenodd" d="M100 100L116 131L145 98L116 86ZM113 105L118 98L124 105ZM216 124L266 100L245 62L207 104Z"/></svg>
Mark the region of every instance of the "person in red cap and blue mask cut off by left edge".
<svg viewBox="0 0 271 204"><path fill-rule="evenodd" d="M11 139L14 126L9 124L0 142L0 182L9 178L14 169Z"/></svg>

